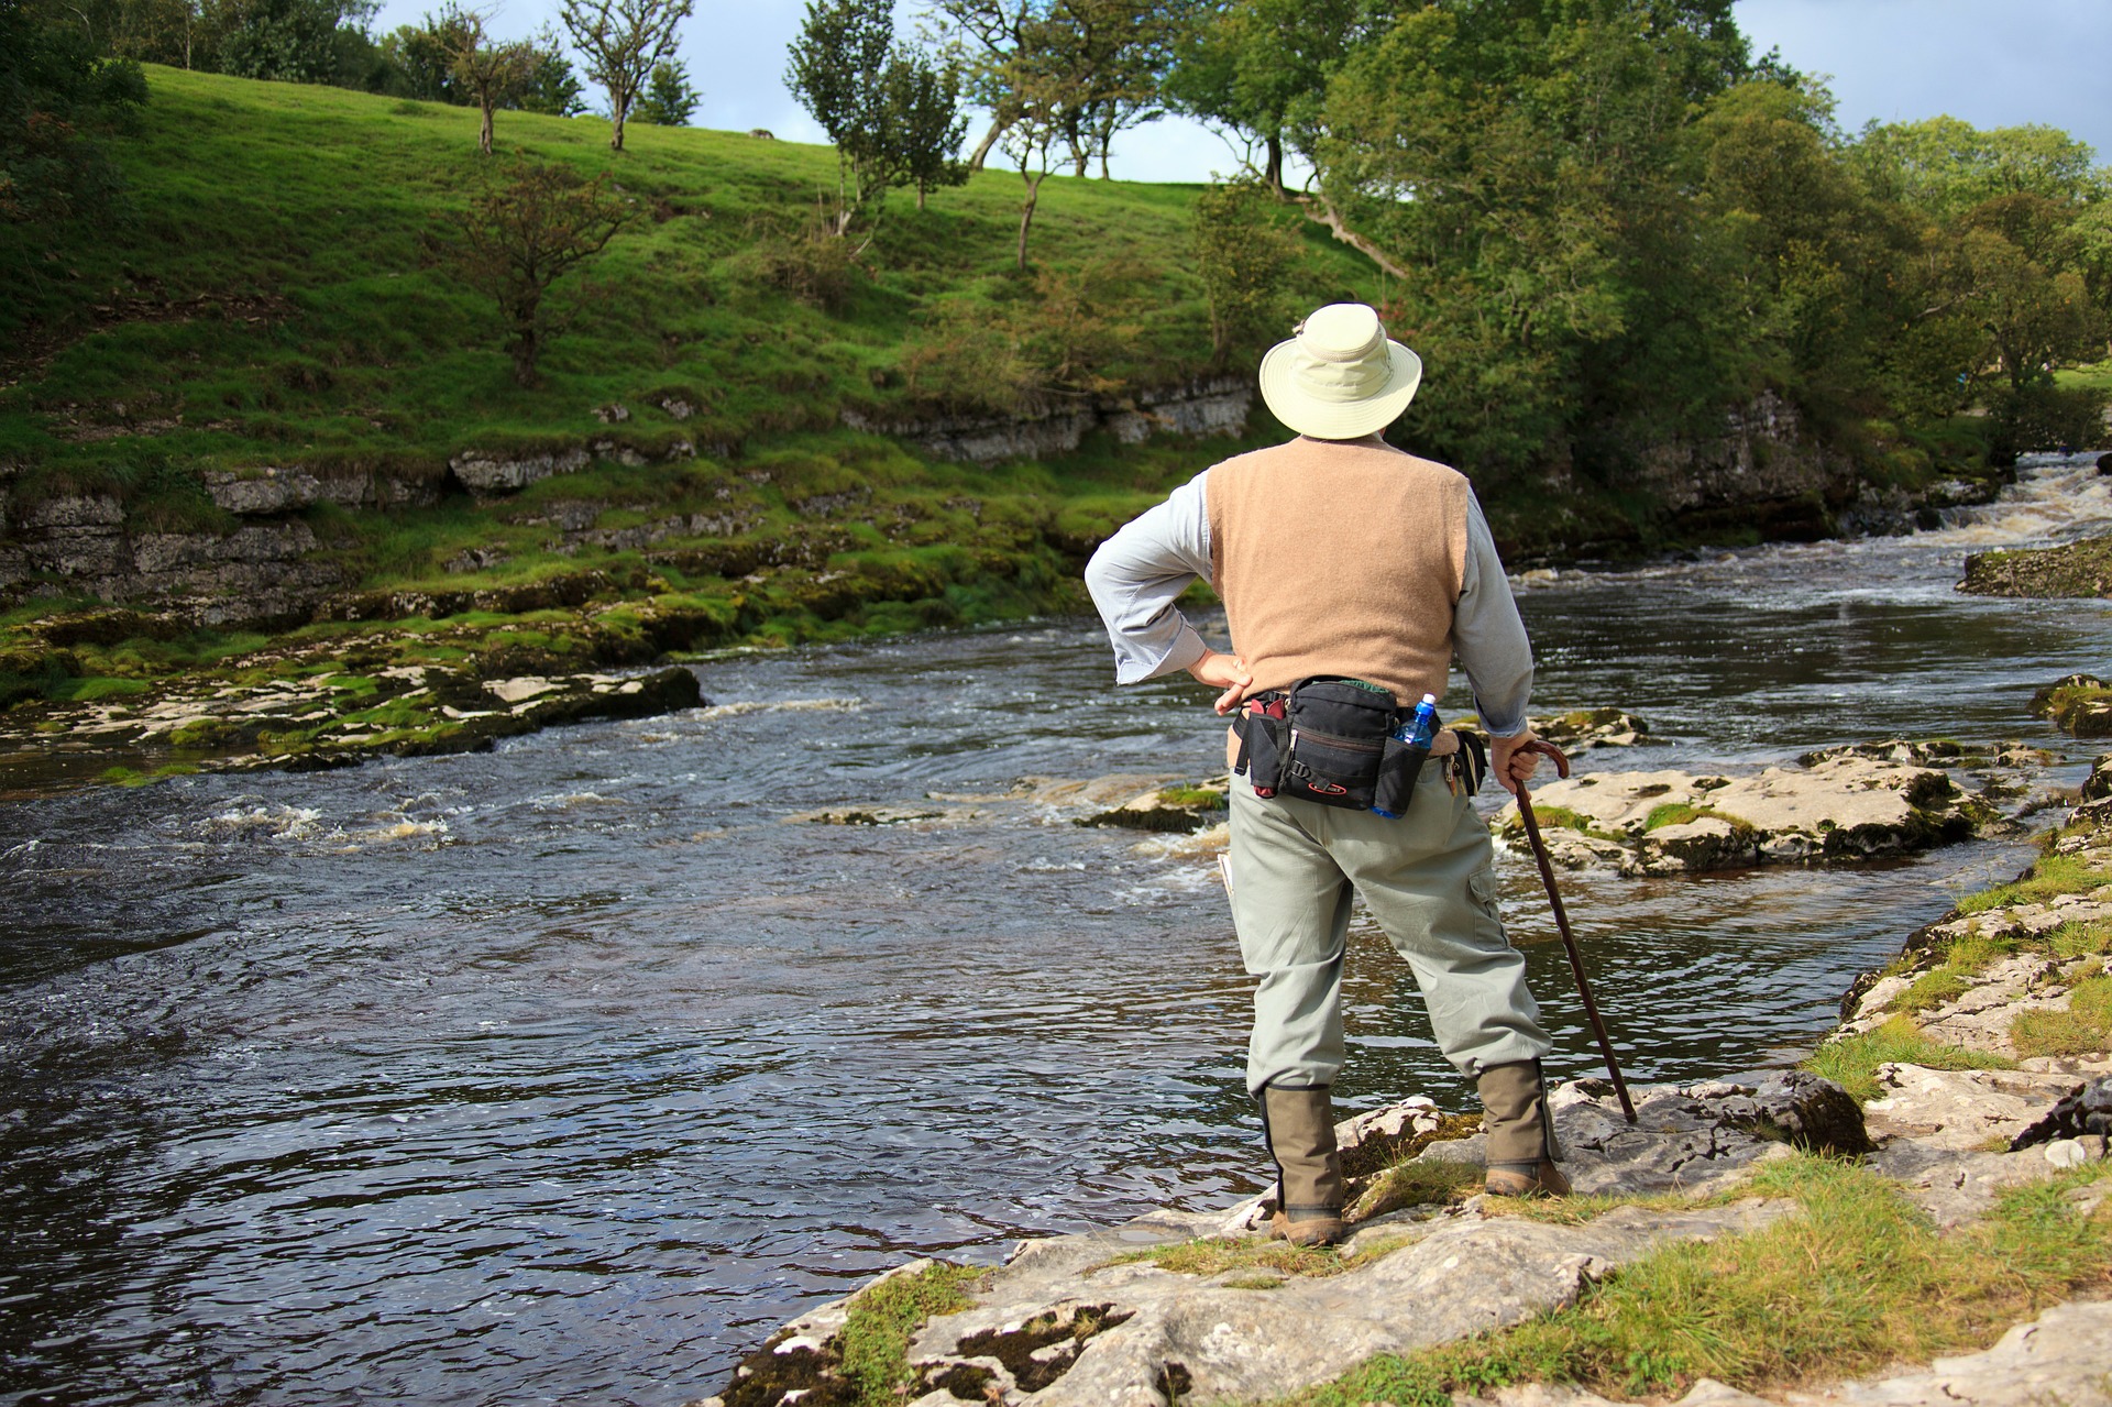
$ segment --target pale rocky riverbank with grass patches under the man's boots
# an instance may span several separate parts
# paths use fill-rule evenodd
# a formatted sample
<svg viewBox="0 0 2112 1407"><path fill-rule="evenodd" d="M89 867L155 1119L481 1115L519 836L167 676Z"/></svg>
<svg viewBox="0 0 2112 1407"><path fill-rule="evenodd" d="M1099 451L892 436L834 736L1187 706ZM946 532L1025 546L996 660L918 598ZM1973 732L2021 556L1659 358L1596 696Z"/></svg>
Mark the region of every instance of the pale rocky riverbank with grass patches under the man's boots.
<svg viewBox="0 0 2112 1407"><path fill-rule="evenodd" d="M1808 769L1854 771L1863 792L1894 805L1886 799L1911 782L1892 786L1871 765L1920 765L1911 752L1871 752L1821 754ZM1339 1251L1265 1240L1269 1206L1255 1198L1022 1242L993 1272L914 1261L781 1329L703 1403L1168 1407L1356 1403L1388 1390L1402 1394L1390 1401L1481 1396L1506 1407L1584 1407L1609 1394L1683 1394L1692 1405L1937 1405L1958 1392L2101 1403L2112 1314L2082 1301L2112 1289L2108 953L2112 758L2017 883L1960 902L1913 934L1892 968L1856 984L1810 1069L1643 1088L1633 1126L1605 1082L1561 1086L1554 1120L1580 1192L1569 1202L1483 1196L1478 1120L1407 1101L1337 1130L1356 1198L1356 1230ZM1818 1230L1844 1208L1861 1217L1856 1232ZM1875 1244L1888 1217L1897 1227L1884 1234L1911 1240L1928 1263L1949 1263L1945 1246L1987 1255L2006 1244L2004 1270L2032 1291L1983 1293L1960 1268L1941 1306L1909 1295L1922 1322L1907 1331L1808 1361L1755 1348L1742 1371L1736 1354L1713 1358L1683 1339L1637 1348L1626 1377L1592 1371L1584 1350L1571 1358L1586 1365L1578 1369L1550 1356L1563 1333L1614 1333L1622 1306L1652 1284L1683 1284L1677 1293L1690 1299L1719 1284L1736 1293L1742 1276L1774 1274L1766 1255L1785 1242L1810 1263L1770 1291L1780 1299L1766 1303L1759 1329L1795 1337L1818 1312L1799 1295L1831 1295L1833 1259L1859 1255L1859 1238ZM2074 1249L2059 1272L2040 1274L2036 1251L2017 1240L2030 1217ZM1886 1253L1856 1272L1873 1276L1854 1291L1863 1312L1886 1312L1890 1282L1916 1274L1913 1257ZM1719 1268L1715 1278L1706 1265ZM1975 1295L1985 1303L1975 1308ZM910 1310L893 1356L874 1367L883 1306ZM1711 1335L1738 1333L1730 1316L1711 1322ZM1506 1356L1506 1331L1533 1335L1538 1348ZM1928 1356L1954 1356L1899 1365L1913 1356L1899 1335L1928 1344ZM1854 1339L1846 1329L1835 1337ZM1983 1344L1992 1348L1956 1356ZM1694 1367L1719 1358L1730 1367ZM1535 1361L1554 1363L1552 1375L1567 1382L1548 1386ZM1483 1367L1459 1367L1474 1363ZM1356 1386L1322 1388L1345 1373ZM1404 1384L1423 1384L1423 1394L1404 1396Z"/></svg>

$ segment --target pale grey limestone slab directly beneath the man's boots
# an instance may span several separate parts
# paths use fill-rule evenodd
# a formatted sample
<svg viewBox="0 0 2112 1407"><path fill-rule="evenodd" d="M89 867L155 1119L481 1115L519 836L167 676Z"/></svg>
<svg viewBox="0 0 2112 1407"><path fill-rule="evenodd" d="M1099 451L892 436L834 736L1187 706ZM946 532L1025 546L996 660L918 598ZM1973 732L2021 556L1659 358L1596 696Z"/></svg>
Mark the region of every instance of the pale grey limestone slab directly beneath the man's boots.
<svg viewBox="0 0 2112 1407"><path fill-rule="evenodd" d="M1383 1179L1455 1196L1434 1192L1364 1215L1339 1257L1309 1274L1242 1255L1242 1246L1263 1244L1259 1225L1269 1208L1261 1198L1229 1215L1153 1213L1022 1242L972 1293L969 1308L934 1318L910 1342L910 1396L923 1407L1278 1399L1379 1352L1411 1352L1567 1306L1660 1246L1787 1217L1789 1202L1723 1202L1721 1194L1791 1145L1871 1149L1856 1103L1806 1073L1639 1090L1633 1126L1595 1082L1563 1086L1552 1107L1580 1194L1660 1200L1576 1223L1519 1217L1514 1204L1466 1196L1478 1183L1481 1139L1457 1137L1457 1120L1409 1101L1337 1130L1345 1166L1383 1166ZM1916 1153L1894 1160L1901 1172L1941 1187L1949 1202L1937 1204L1949 1208L1964 1204L1958 1187L1983 1192L1983 1208L1996 1189L2047 1170L2042 1156L1949 1153L1897 1134L1892 1143ZM1419 1151L1388 1166L1385 1156L1402 1147ZM1366 1158L1373 1149L1381 1158ZM1662 1194L1685 1200L1666 1204ZM705 1407L849 1401L838 1373L847 1320L849 1301L800 1316Z"/></svg>

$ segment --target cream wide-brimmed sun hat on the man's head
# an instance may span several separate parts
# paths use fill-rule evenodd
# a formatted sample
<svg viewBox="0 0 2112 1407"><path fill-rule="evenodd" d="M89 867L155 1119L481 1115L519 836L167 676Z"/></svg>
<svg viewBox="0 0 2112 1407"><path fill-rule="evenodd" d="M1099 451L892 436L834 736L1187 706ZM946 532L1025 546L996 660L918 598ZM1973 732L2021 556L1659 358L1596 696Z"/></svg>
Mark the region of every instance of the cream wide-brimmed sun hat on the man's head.
<svg viewBox="0 0 2112 1407"><path fill-rule="evenodd" d="M1261 359L1261 399L1314 439L1360 439L1409 408L1423 359L1385 336L1377 311L1331 302Z"/></svg>

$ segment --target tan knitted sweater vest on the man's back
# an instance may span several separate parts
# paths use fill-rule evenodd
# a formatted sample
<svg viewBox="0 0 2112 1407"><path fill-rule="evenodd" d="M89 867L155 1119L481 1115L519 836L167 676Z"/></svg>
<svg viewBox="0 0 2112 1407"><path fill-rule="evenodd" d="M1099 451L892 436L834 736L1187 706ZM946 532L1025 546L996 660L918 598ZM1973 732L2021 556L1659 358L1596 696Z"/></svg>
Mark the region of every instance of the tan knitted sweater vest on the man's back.
<svg viewBox="0 0 2112 1407"><path fill-rule="evenodd" d="M1210 577L1255 689L1309 674L1445 697L1466 475L1377 439L1293 439L1204 480Z"/></svg>

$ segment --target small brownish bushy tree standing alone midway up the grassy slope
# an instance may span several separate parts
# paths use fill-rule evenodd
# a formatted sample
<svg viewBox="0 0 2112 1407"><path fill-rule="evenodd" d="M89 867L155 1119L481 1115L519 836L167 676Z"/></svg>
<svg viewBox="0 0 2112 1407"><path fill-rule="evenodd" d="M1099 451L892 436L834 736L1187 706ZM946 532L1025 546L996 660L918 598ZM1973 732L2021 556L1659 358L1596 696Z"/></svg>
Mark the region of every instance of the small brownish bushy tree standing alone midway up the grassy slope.
<svg viewBox="0 0 2112 1407"><path fill-rule="evenodd" d="M581 180L566 167L517 161L490 175L463 218L463 279L490 294L507 323L513 380L536 384L536 359L562 323L545 300L553 283L598 256L631 218L608 192L608 175Z"/></svg>

